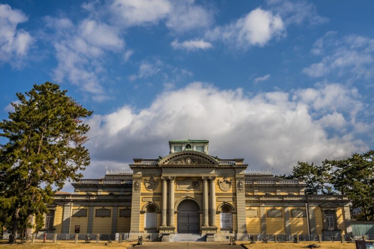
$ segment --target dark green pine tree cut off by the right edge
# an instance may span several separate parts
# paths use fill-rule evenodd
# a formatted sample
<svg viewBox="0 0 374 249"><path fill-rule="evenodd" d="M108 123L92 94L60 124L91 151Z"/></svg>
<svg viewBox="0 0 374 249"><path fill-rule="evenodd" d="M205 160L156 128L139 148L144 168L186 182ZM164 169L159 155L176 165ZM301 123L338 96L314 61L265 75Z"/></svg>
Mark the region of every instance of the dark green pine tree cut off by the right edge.
<svg viewBox="0 0 374 249"><path fill-rule="evenodd" d="M352 200L355 217L374 220L374 150L329 163L335 168L334 187Z"/></svg>

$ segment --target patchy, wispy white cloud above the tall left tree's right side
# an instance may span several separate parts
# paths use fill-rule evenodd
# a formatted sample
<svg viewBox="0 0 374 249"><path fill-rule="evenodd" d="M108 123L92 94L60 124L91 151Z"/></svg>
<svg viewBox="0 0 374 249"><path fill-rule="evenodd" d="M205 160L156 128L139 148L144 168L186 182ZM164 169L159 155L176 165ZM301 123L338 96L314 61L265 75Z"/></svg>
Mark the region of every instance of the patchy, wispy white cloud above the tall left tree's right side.
<svg viewBox="0 0 374 249"><path fill-rule="evenodd" d="M45 21L56 34L52 41L57 59L54 80L77 85L95 101L107 99L101 84L105 77L103 63L106 53L125 47L120 30L92 19L83 19L77 25L67 18L47 17Z"/></svg>

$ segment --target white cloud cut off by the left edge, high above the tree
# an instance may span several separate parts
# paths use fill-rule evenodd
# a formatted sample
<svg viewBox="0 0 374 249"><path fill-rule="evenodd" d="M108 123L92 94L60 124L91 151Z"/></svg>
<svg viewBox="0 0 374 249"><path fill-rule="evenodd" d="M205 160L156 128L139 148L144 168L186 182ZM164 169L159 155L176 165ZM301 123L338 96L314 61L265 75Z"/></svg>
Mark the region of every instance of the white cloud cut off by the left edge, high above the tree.
<svg viewBox="0 0 374 249"><path fill-rule="evenodd" d="M27 20L22 11L0 4L0 63L8 62L16 68L22 65L34 39L17 25Z"/></svg>

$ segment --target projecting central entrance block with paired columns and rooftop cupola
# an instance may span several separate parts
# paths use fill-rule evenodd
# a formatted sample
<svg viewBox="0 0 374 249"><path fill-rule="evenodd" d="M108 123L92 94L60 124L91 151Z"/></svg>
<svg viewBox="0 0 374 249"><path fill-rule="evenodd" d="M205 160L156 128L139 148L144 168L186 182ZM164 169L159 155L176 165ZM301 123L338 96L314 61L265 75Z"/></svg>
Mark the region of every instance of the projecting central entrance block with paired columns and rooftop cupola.
<svg viewBox="0 0 374 249"><path fill-rule="evenodd" d="M238 217L233 182L244 178L247 165L242 159L220 160L209 156L207 144L207 141L188 141L187 144L170 141L168 156L160 160L134 159L134 164L130 165L133 177L139 178L139 186L134 185L134 188L140 190L139 198L132 198L131 210L136 210L138 205L143 206L146 201L158 204L161 207L157 219L159 233L216 233L220 231L217 224L222 212L217 208L224 203L235 207L230 212L232 218L236 218L233 224L239 226L232 228L231 225L231 231L246 231L245 204L240 207L243 217ZM133 220L132 215L136 217L136 213L131 213ZM139 215L139 222L135 225L131 221L131 232L151 231L151 228L142 225L145 216L147 214L143 217Z"/></svg>

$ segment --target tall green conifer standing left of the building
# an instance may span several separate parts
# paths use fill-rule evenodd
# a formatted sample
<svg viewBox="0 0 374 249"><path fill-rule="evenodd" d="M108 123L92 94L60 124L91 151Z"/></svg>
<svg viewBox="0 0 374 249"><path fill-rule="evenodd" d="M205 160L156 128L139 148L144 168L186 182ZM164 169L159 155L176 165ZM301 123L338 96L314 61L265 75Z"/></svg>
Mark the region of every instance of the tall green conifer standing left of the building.
<svg viewBox="0 0 374 249"><path fill-rule="evenodd" d="M82 118L92 114L66 90L46 82L34 85L25 94L17 93L20 104L12 103L14 112L0 122L7 139L0 147L0 223L26 239L31 221L36 217L37 229L43 226L46 203L67 179L81 178L78 170L90 163L83 146L89 126Z"/></svg>

